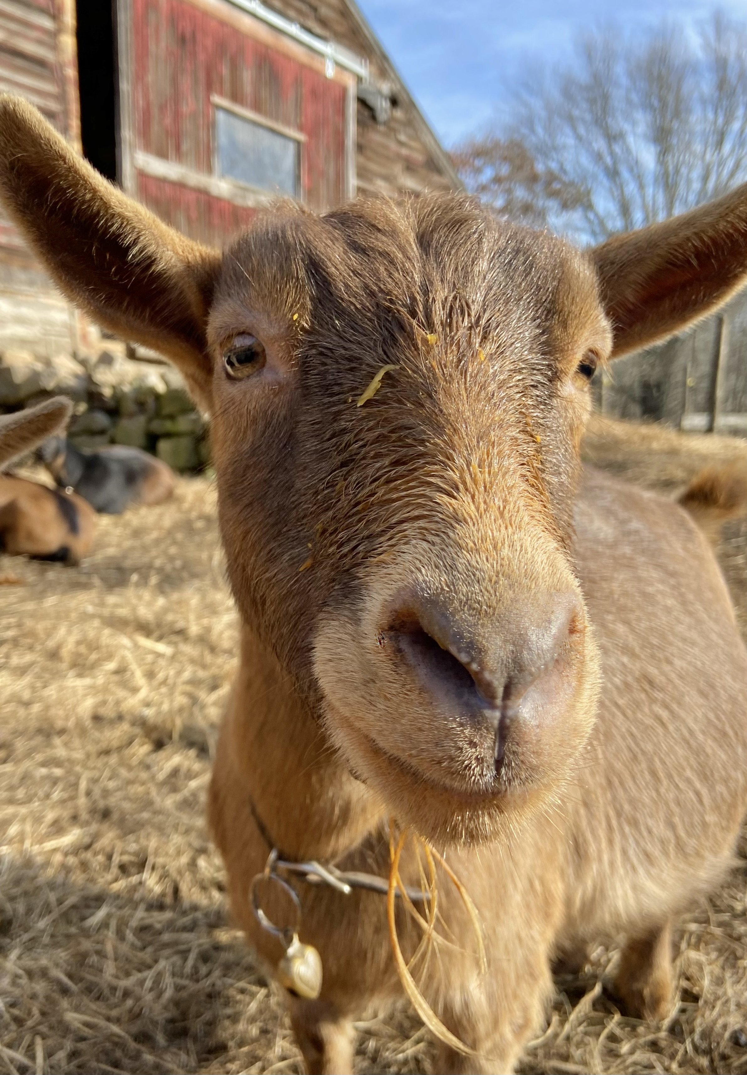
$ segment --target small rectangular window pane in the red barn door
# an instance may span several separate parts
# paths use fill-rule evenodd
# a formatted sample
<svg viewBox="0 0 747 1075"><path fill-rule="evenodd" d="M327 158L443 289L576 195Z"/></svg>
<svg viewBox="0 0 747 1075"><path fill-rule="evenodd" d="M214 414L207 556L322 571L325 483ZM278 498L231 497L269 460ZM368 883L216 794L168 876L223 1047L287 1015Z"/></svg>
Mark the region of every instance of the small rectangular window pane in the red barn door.
<svg viewBox="0 0 747 1075"><path fill-rule="evenodd" d="M215 166L219 176L298 198L301 137L260 117L215 109Z"/></svg>

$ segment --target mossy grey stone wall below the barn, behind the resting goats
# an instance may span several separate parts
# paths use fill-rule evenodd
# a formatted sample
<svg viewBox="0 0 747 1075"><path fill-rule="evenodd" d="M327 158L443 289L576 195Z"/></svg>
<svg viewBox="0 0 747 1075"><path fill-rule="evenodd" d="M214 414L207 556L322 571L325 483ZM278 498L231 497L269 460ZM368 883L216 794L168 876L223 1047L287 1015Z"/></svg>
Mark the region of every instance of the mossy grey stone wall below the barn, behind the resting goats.
<svg viewBox="0 0 747 1075"><path fill-rule="evenodd" d="M206 424L184 379L153 353L102 340L85 358L16 349L0 355L0 413L57 395L74 401L68 438L80 448L128 444L177 471L200 470L210 461Z"/></svg>

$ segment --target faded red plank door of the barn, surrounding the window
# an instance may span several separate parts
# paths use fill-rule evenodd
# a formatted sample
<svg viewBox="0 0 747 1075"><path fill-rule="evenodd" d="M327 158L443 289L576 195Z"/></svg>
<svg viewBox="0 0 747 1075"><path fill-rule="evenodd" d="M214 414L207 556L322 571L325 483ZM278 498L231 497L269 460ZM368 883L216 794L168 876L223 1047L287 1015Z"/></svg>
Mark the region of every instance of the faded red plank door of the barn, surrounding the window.
<svg viewBox="0 0 747 1075"><path fill-rule="evenodd" d="M201 177L216 177L216 99L298 132L305 204L324 210L344 201L349 75L326 77L320 56L229 3L130 0L127 6L133 192L145 204L210 243L248 221L250 191L236 185L219 197L206 182L199 189ZM183 182L175 172L156 175L159 161L181 168ZM254 203L261 202L259 192Z"/></svg>

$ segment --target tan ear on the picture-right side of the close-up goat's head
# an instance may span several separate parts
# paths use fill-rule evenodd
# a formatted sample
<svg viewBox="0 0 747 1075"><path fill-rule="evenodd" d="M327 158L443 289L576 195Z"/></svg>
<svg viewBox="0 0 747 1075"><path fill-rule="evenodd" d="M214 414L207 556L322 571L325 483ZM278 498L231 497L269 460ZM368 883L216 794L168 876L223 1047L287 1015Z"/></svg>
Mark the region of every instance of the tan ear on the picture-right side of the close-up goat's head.
<svg viewBox="0 0 747 1075"><path fill-rule="evenodd" d="M590 252L613 358L680 332L747 284L747 184Z"/></svg>

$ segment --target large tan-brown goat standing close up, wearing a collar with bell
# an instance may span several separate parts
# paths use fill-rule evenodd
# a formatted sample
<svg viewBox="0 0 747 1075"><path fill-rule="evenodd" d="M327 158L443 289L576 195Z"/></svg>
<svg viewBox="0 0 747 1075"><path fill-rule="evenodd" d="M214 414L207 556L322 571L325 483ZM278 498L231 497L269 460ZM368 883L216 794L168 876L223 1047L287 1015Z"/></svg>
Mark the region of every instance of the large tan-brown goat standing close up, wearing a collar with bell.
<svg viewBox="0 0 747 1075"><path fill-rule="evenodd" d="M221 256L4 98L0 190L66 293L212 414L243 627L210 813L269 964L271 845L386 877L392 816L482 923L485 973L440 872L456 943L421 988L474 1051L443 1045L439 1072L511 1071L550 960L591 941L626 938L621 1001L664 1015L670 921L719 884L747 803L747 656L687 513L578 448L598 362L744 283L747 188L586 254L440 196L281 205ZM400 873L420 887L412 844ZM387 901L295 887L324 981L291 1018L310 1071L347 1072L351 1019L400 989ZM408 958L404 899L396 921Z"/></svg>

